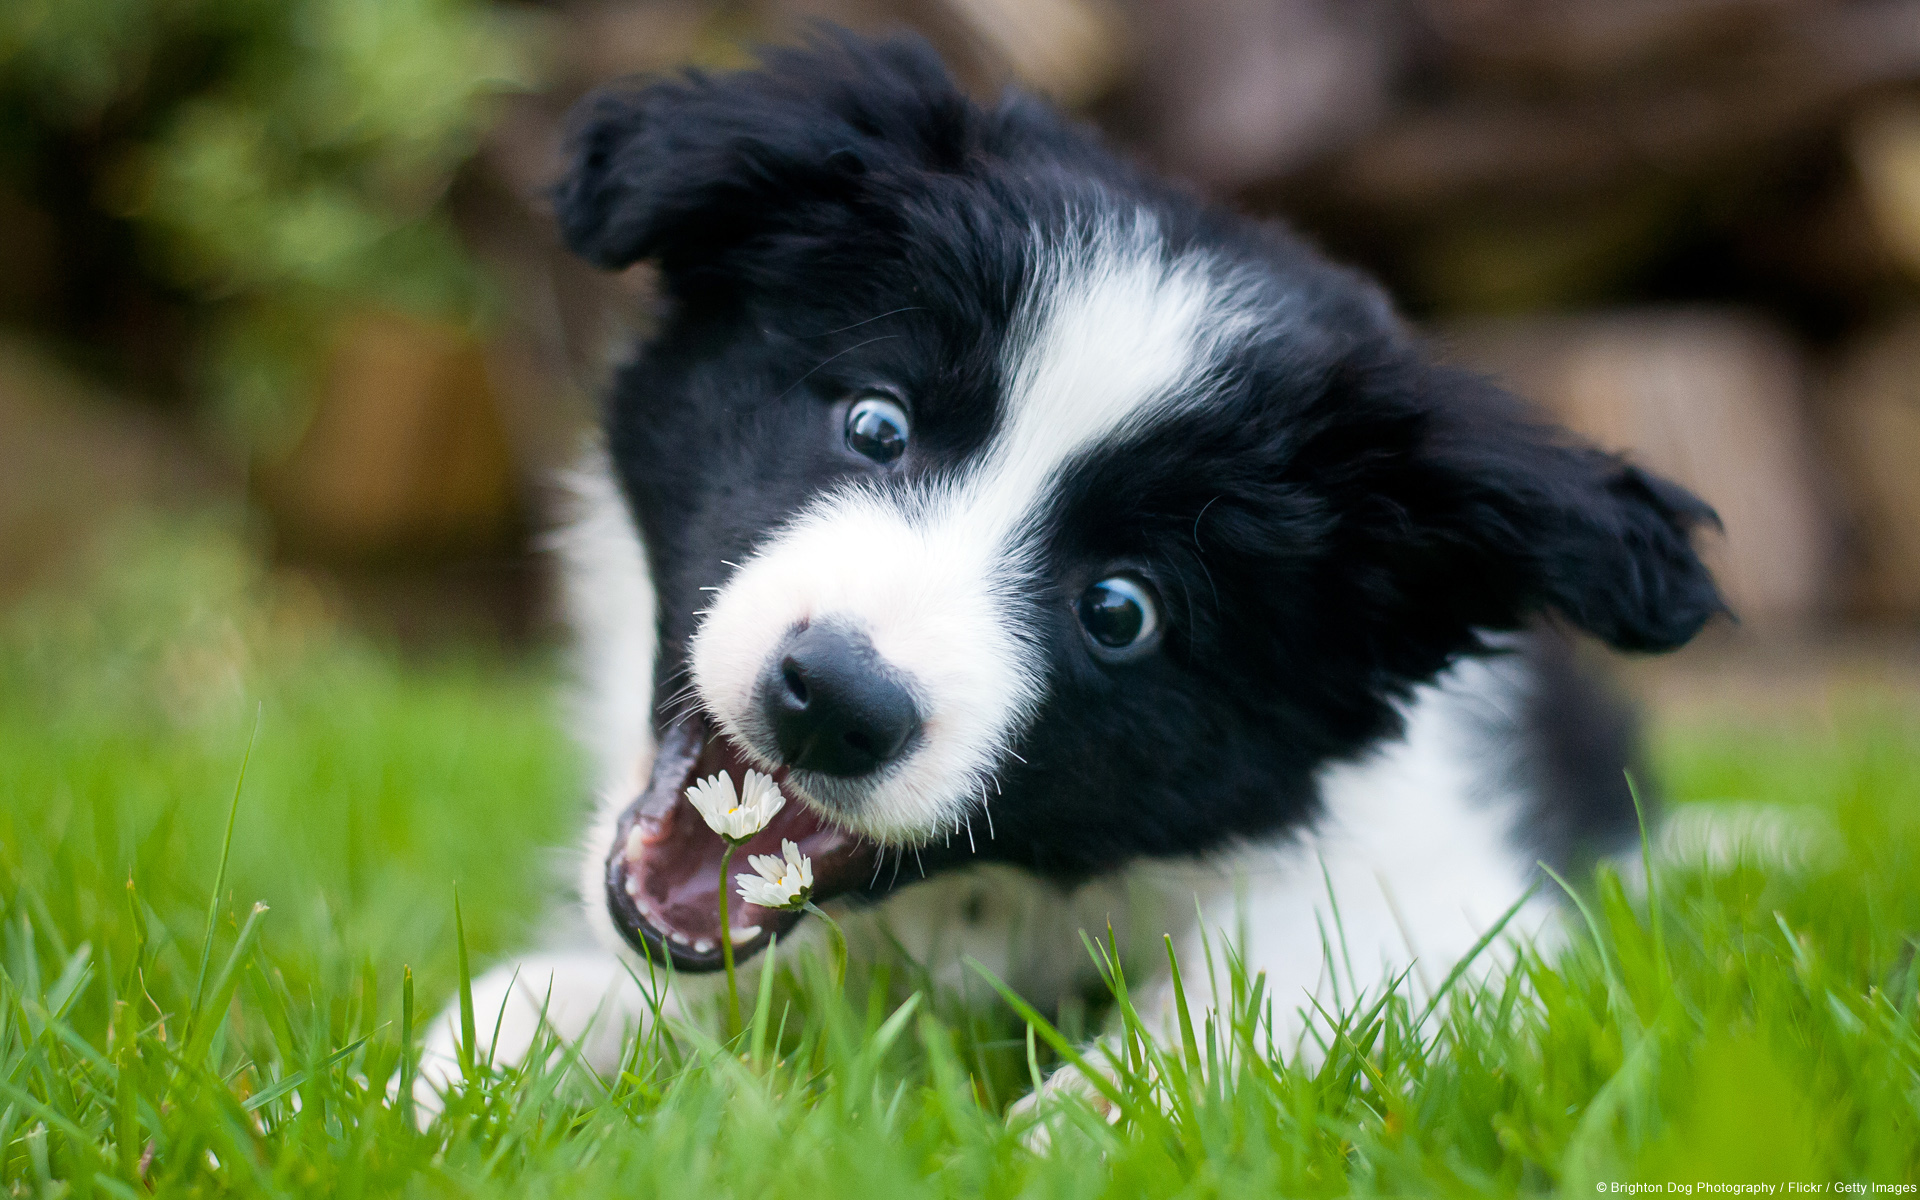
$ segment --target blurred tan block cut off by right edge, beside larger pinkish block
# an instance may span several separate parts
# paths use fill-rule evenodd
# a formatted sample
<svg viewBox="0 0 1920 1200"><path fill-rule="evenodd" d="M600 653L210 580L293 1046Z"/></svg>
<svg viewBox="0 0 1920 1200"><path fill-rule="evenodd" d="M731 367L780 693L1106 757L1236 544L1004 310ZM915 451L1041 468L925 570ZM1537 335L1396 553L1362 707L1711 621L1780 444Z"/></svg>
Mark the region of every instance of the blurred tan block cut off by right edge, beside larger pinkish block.
<svg viewBox="0 0 1920 1200"><path fill-rule="evenodd" d="M1920 313L1860 338L1818 413L1853 522L1853 599L1920 620Z"/></svg>

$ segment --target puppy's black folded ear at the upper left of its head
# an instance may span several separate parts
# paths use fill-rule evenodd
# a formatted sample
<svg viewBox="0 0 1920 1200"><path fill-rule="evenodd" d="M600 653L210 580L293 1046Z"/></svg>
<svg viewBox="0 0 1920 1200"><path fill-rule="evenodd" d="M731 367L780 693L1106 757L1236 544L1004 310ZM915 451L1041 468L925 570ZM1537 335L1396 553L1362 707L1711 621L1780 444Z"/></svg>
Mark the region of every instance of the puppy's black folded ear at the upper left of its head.
<svg viewBox="0 0 1920 1200"><path fill-rule="evenodd" d="M555 188L566 246L668 275L833 209L904 169L956 167L977 109L924 40L822 33L753 71L607 88L570 119Z"/></svg>

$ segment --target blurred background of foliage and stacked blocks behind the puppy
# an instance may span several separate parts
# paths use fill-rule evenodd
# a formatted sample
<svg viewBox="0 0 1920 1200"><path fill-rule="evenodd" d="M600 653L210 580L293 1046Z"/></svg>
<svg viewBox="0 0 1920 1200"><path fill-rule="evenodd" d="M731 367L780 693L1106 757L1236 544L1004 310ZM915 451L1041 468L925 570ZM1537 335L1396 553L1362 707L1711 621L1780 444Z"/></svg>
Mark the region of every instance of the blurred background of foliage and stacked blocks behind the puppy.
<svg viewBox="0 0 1920 1200"><path fill-rule="evenodd" d="M1284 215L1701 492L1743 624L1659 703L1920 687L1920 0L8 0L0 607L213 513L276 620L551 641L649 296L557 246L561 117L822 19Z"/></svg>

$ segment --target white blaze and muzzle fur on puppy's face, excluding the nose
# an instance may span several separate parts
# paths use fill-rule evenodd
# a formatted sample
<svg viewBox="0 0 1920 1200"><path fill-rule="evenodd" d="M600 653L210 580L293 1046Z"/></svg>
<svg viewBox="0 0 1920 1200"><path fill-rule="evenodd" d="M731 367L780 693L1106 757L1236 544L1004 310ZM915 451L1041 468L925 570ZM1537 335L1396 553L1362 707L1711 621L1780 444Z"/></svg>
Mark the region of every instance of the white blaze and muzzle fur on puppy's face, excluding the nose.
<svg viewBox="0 0 1920 1200"><path fill-rule="evenodd" d="M843 789L843 818L876 837L924 841L991 801L1000 756L1044 695L1023 626L1060 470L1196 399L1219 349L1252 326L1238 290L1204 257L1169 257L1144 217L1035 244L1000 422L973 463L908 495L820 497L741 566L693 639L708 712L768 756L755 691L795 626L849 624L906 676L924 722L912 753L870 780L797 780Z"/></svg>

